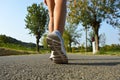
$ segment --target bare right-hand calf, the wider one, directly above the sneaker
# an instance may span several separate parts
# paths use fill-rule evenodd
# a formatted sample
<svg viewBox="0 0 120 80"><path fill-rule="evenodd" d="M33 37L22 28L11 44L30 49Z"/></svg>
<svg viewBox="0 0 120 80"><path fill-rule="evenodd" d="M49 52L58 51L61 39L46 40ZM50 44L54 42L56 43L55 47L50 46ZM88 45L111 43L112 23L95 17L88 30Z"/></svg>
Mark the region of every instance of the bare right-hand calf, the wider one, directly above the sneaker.
<svg viewBox="0 0 120 80"><path fill-rule="evenodd" d="M66 20L66 0L54 0L54 30L64 31Z"/></svg>

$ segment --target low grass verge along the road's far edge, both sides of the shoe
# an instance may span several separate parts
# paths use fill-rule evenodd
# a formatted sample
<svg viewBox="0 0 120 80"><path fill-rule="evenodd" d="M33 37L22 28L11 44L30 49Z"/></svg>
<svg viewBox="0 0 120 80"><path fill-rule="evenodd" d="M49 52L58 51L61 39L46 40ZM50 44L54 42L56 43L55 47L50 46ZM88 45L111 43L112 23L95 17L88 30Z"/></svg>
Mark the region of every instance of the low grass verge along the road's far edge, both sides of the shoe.
<svg viewBox="0 0 120 80"><path fill-rule="evenodd" d="M32 49L20 49L20 48L6 48L6 47L0 47L0 56L10 56L10 55L30 55L30 54L46 54L50 53L50 50L48 49L40 49L40 52L36 52L35 50ZM92 52L76 52L72 54L85 54L85 55L93 55ZM120 51L119 50L113 50L113 51L104 51L100 50L98 53L95 55L116 55L120 56Z"/></svg>

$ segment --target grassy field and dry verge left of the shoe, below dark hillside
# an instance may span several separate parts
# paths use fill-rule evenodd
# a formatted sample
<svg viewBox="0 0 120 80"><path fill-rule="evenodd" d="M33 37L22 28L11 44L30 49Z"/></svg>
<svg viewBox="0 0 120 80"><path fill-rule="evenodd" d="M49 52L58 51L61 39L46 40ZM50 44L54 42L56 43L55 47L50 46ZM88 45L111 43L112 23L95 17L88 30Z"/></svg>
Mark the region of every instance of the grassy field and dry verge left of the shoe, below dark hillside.
<svg viewBox="0 0 120 80"><path fill-rule="evenodd" d="M40 49L36 52L36 47L26 47L18 44L0 43L0 56L9 55L29 55L29 54L44 54L48 50Z"/></svg>

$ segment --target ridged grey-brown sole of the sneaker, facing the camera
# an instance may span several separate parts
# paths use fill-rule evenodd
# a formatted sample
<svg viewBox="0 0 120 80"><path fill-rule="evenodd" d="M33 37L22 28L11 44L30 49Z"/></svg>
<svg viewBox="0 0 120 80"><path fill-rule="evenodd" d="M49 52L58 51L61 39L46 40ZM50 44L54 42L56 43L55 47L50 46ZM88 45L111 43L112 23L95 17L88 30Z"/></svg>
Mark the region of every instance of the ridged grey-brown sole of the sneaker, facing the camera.
<svg viewBox="0 0 120 80"><path fill-rule="evenodd" d="M67 64L68 63L67 57L61 52L61 43L57 36L55 36L55 35L48 36L47 44L51 48L51 50L55 51L54 55L56 55L56 56L51 58L51 60L53 60L54 63L57 63L57 64Z"/></svg>

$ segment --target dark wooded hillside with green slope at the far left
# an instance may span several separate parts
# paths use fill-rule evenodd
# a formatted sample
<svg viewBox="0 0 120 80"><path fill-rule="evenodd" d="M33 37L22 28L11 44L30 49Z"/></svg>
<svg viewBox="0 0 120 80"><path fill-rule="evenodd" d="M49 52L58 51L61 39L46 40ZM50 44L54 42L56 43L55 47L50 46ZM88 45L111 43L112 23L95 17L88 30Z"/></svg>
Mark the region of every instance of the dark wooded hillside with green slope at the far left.
<svg viewBox="0 0 120 80"><path fill-rule="evenodd" d="M0 35L0 47L15 49L35 49L36 44L26 43L6 35Z"/></svg>

